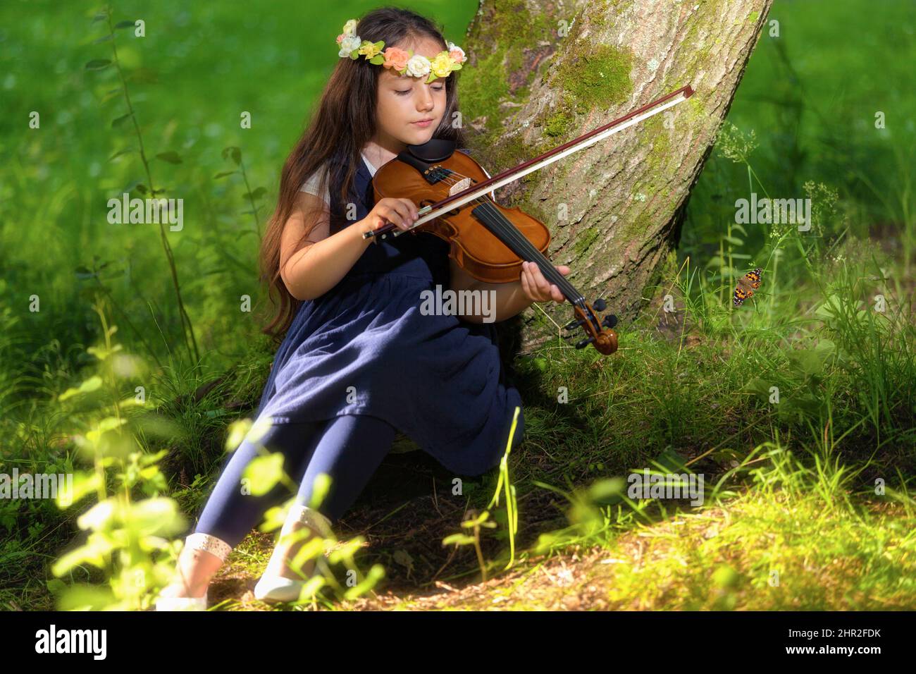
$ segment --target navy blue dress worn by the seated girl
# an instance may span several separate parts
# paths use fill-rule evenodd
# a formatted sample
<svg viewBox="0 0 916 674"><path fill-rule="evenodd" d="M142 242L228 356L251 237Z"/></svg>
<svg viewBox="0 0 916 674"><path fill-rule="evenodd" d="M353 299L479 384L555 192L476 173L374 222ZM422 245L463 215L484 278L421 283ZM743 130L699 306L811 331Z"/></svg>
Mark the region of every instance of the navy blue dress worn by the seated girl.
<svg viewBox="0 0 916 674"><path fill-rule="evenodd" d="M356 220L372 210L371 180L360 160L351 193ZM335 192L332 212L340 209ZM449 287L448 252L428 232L369 244L337 285L300 304L256 417L282 424L369 414L449 470L479 475L496 466L522 406L507 384L496 328L420 314L422 291ZM513 448L523 435L519 411Z"/></svg>

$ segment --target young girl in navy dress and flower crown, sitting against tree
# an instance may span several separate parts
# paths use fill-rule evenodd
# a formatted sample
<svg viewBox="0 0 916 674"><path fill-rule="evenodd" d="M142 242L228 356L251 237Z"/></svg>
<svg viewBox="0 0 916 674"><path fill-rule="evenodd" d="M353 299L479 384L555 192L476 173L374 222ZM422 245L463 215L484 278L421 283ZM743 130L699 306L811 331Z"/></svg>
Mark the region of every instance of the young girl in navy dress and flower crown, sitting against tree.
<svg viewBox="0 0 916 674"><path fill-rule="evenodd" d="M379 40L384 47L376 53ZM301 539L327 535L398 431L457 474L479 475L498 464L521 398L507 385L495 328L479 315L420 313L424 291L437 284L493 291L496 321L532 302L563 301L533 264L518 282L488 284L450 260L449 244L429 232L364 238L386 221L406 230L418 219L409 199L373 204L379 167L431 138L466 145L453 126L458 98L450 74L466 57L431 21L406 9L348 21L337 42L341 61L283 168L262 244L262 272L279 296L265 332L285 333L256 412L267 433L246 438L226 462L186 539L178 575L160 595L160 611L205 609L207 585L230 550L267 508L288 498L279 485L263 496L242 489L258 444L282 452L283 470L300 480L255 588L265 601L299 598L303 575L289 561ZM522 436L519 414L514 446ZM331 486L314 509L309 503L322 473ZM313 562L303 570L312 569Z"/></svg>

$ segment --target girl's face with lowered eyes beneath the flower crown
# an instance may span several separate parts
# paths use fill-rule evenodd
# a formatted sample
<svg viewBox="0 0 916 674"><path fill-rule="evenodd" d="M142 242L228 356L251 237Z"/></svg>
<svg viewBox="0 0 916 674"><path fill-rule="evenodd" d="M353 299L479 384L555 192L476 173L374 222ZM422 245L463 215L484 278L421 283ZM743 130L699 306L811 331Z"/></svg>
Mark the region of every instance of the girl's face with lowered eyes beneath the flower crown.
<svg viewBox="0 0 916 674"><path fill-rule="evenodd" d="M432 60L442 51L442 45L433 39L423 39L399 49L422 54ZM449 75L452 77L452 75ZM426 83L425 77L399 75L382 68L378 78L378 105L376 127L381 139L391 139L405 145L421 145L432 138L445 114L445 78ZM415 124L431 119L429 124ZM382 143L383 145L386 143Z"/></svg>

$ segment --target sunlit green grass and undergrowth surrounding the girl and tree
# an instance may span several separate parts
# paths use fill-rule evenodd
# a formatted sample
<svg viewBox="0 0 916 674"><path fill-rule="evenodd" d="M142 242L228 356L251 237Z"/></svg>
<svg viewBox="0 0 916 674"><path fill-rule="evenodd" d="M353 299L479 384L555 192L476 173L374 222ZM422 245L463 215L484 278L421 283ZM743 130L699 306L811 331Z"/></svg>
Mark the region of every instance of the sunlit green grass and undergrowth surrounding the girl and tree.
<svg viewBox="0 0 916 674"><path fill-rule="evenodd" d="M228 425L256 405L273 357L256 311L240 309L243 295L256 308L264 303L257 232L278 167L336 58L327 36L360 10L322 13L303 26L288 20L299 5L255 16L241 7L115 6L115 21L147 21L143 41L123 31L117 38L125 72L156 72L156 81L147 72L126 85L139 134L111 126L125 114L123 91L106 97L116 73L84 69L110 55L109 43L93 44L104 34L90 23L97 6L0 7L0 91L18 111L0 118L0 471L85 466L72 436L107 403L56 401L98 367L86 350L102 338L96 297L106 300L117 342L143 363L117 393L124 400L144 387L147 406L128 414L134 437L147 454L168 451L163 492L182 513L199 510L224 459ZM460 35L476 8L433 7L447 35ZM771 17L780 19L781 41L761 38L729 114L736 129L720 139L694 189L681 270L647 289L655 295L635 325L618 326L615 356L558 340L518 359L527 439L509 461L517 564L499 576L509 558L507 520L503 505L491 508L497 527L481 532L485 569L505 581L492 594L459 593L458 606L490 606L496 596L504 608L562 606L562 587L528 593L518 583L558 561L573 564L582 550L622 560L583 558L573 567L580 586L597 588L590 605L600 608L916 605L908 496L916 475L916 129L907 121L916 94L906 86L916 41L905 28L912 9L778 0ZM842 49L837 35L851 26L857 49ZM242 49L240 36L254 30L270 41ZM31 110L41 113L40 129L27 128ZM236 126L243 110L251 129ZM876 110L887 128L874 127ZM108 159L139 138L148 157L173 151L181 162L152 159L147 171L135 153ZM245 176L215 179L236 169L223 151L232 147ZM185 199L185 228L169 233L169 244L199 361L182 337L158 229L105 221L106 199L133 182ZM734 202L751 191L811 196L813 231L736 227ZM766 270L763 285L734 310L736 276L755 265ZM665 294L676 313L661 310ZM32 295L38 312L28 311ZM556 397L561 387L566 403ZM705 507L627 503L614 492L608 481L653 461L702 472ZM396 493L395 504L375 509L366 497L354 514L369 532L357 561L382 563L405 607L429 606L411 593L435 589L433 580L478 580L474 549L453 551L440 539L460 530L465 510L487 508L497 480L496 471L466 480L463 499L450 502L453 476L420 476L417 494L398 503ZM444 514L422 491L430 476L437 505L449 505ZM875 492L878 480L886 493ZM136 502L149 495L139 486L132 493ZM56 605L49 567L75 545L80 511L0 501L0 606ZM409 514L420 517L422 540L402 537L417 525ZM234 591L266 563L264 543L252 536L234 552ZM409 571L400 568L405 558ZM769 584L772 570L779 586ZM105 578L82 565L65 580ZM226 607L239 608L236 599Z"/></svg>

